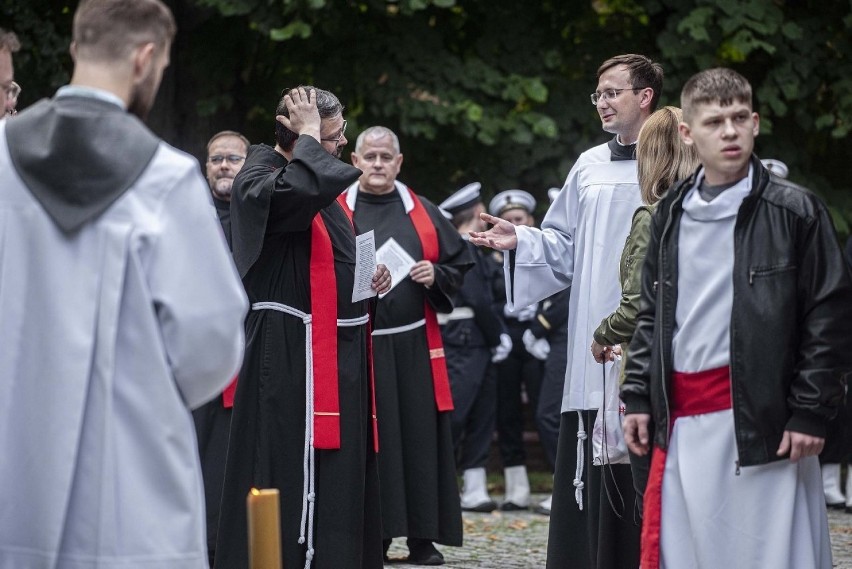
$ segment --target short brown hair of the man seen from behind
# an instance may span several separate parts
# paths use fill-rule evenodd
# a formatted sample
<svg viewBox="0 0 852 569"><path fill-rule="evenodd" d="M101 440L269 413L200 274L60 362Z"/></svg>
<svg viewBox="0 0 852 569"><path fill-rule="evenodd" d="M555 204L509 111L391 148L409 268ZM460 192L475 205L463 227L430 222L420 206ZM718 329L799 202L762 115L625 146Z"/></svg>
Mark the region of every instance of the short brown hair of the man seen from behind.
<svg viewBox="0 0 852 569"><path fill-rule="evenodd" d="M78 57L113 61L145 43L167 48L176 31L171 10L160 0L82 0L71 39Z"/></svg>

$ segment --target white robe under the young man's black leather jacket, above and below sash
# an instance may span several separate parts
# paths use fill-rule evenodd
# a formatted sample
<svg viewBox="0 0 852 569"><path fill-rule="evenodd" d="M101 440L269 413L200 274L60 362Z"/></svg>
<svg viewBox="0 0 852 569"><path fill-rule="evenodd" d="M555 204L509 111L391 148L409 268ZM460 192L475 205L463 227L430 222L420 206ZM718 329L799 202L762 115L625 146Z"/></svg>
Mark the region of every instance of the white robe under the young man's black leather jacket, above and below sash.
<svg viewBox="0 0 852 569"><path fill-rule="evenodd" d="M703 178L684 197L679 228L672 350L682 372L730 362L734 227L752 170L710 202ZM832 566L819 460L739 467L730 409L675 420L661 519L660 569Z"/></svg>

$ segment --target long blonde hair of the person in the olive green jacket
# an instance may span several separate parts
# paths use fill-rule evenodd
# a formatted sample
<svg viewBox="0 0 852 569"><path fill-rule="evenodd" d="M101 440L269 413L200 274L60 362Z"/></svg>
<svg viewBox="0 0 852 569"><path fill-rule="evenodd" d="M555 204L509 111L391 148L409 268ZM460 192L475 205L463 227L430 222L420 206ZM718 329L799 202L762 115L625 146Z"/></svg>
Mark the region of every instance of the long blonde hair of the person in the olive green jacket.
<svg viewBox="0 0 852 569"><path fill-rule="evenodd" d="M677 180L687 178L698 167L695 146L680 139L678 125L683 113L677 107L663 107L651 114L636 143L636 166L642 201L653 205Z"/></svg>

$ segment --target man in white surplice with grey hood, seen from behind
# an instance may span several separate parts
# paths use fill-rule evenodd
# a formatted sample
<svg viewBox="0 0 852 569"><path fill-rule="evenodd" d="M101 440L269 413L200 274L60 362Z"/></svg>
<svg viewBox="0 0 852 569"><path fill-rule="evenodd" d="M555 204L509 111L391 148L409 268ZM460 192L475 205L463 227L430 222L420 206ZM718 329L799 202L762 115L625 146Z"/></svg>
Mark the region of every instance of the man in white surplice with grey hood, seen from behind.
<svg viewBox="0 0 852 569"><path fill-rule="evenodd" d="M174 31L80 3L71 84L0 121L2 569L207 567L190 408L248 303L198 163L137 118Z"/></svg>

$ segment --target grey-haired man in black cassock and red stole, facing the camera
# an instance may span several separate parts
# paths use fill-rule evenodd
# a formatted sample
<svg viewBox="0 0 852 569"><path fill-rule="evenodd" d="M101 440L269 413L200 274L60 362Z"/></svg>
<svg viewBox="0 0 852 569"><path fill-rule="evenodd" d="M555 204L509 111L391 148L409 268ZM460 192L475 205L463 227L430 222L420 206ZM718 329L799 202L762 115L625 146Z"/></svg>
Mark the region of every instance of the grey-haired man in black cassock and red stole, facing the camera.
<svg viewBox="0 0 852 569"><path fill-rule="evenodd" d="M433 542L461 545L462 523L436 312L452 311L473 259L438 208L396 180L402 154L392 131L361 133L352 162L364 173L341 202L361 231L375 231L377 248L392 237L416 261L378 302L373 330L385 551L407 536L409 563L440 565Z"/></svg>

